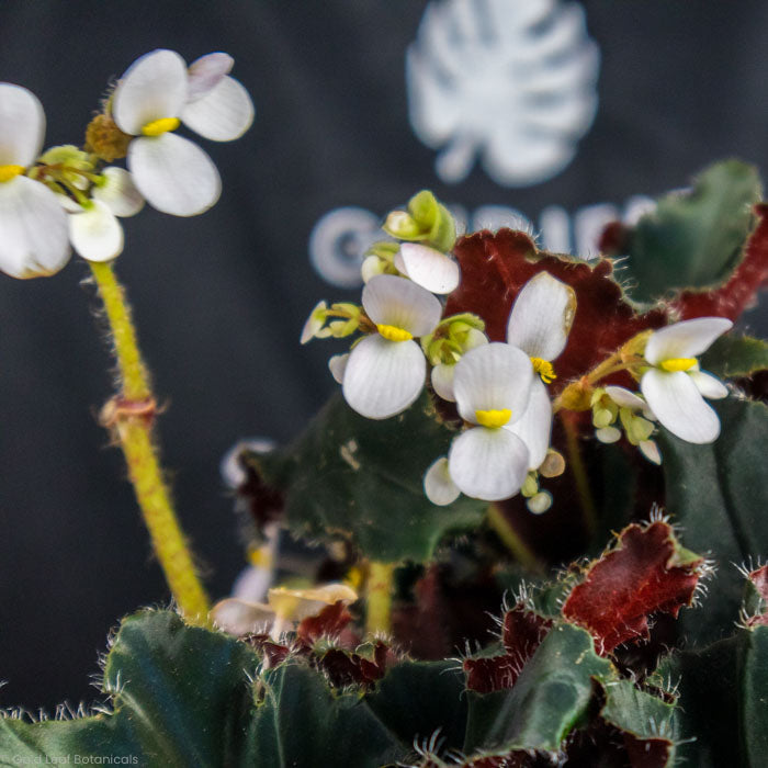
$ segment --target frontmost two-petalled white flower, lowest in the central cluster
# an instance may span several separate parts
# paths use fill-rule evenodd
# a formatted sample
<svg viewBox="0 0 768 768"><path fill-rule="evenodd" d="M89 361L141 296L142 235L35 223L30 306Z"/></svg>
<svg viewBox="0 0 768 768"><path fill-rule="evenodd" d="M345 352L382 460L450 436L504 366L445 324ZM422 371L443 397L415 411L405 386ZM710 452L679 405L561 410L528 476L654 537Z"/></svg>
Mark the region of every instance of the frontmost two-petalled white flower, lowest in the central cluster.
<svg viewBox="0 0 768 768"><path fill-rule="evenodd" d="M451 479L466 496L496 501L520 490L529 449L512 427L528 406L532 382L530 359L510 345L477 347L456 363L459 414L475 426L453 439L448 462Z"/></svg>

